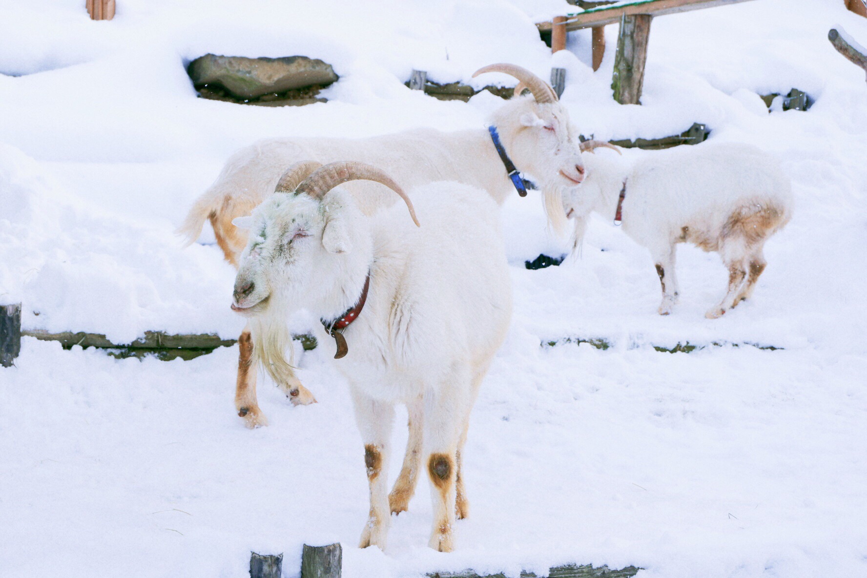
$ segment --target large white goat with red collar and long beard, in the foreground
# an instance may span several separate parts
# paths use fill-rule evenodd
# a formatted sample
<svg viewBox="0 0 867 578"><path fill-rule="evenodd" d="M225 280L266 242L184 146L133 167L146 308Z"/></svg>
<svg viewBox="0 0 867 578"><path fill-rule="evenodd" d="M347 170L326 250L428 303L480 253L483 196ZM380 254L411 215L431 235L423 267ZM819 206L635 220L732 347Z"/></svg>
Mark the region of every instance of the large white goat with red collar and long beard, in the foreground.
<svg viewBox="0 0 867 578"><path fill-rule="evenodd" d="M468 509L460 457L470 411L512 312L497 205L468 185L423 185L413 192L424 224L417 228L405 207L366 217L351 194L331 190L370 179L404 196L383 172L333 163L296 185L310 168L290 169L277 188L286 194L238 222L251 227L251 238L232 308L250 317L255 355L278 382L291 371L287 315L305 308L330 321L356 313L342 330L349 354L336 364L349 381L365 447L370 512L361 546L385 548L390 513L406 510L421 463L433 486L429 545L449 551L456 513ZM389 497L398 403L407 405L410 435Z"/></svg>

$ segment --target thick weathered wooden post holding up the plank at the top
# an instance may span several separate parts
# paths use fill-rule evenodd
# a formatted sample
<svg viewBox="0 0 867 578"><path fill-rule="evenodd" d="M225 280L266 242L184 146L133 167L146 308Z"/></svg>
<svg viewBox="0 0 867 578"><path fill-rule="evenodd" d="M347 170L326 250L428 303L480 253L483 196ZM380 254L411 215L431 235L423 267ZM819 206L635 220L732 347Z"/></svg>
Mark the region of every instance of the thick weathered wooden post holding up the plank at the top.
<svg viewBox="0 0 867 578"><path fill-rule="evenodd" d="M620 104L641 104L651 20L653 16L649 14L623 15L620 19L614 81L611 83L614 100Z"/></svg>

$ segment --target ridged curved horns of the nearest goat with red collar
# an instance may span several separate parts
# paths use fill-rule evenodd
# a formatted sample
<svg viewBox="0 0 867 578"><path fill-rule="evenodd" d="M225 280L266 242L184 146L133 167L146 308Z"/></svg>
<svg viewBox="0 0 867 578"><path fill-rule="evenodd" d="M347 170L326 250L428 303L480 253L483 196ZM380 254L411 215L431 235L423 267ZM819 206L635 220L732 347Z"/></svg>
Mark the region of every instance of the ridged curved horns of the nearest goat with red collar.
<svg viewBox="0 0 867 578"><path fill-rule="evenodd" d="M409 209L409 215L416 226L419 219L415 216L413 202L403 192L401 186L394 182L385 172L375 166L365 165L357 161L341 161L323 166L315 160L304 160L289 167L280 177L275 192L295 192L306 194L317 200L322 200L325 193L350 180L372 180L396 192Z"/></svg>

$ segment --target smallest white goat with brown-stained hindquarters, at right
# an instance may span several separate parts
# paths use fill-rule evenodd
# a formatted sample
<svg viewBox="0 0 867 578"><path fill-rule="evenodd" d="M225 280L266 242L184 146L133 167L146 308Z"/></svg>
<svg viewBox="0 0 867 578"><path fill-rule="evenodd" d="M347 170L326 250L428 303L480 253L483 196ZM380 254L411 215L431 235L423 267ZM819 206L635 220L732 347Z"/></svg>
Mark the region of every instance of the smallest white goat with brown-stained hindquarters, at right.
<svg viewBox="0 0 867 578"><path fill-rule="evenodd" d="M621 159L600 149L584 156L588 178L564 194L581 244L590 211L614 219L626 183L623 232L647 247L662 283L661 315L678 298L676 244L717 251L729 270L728 290L708 318L719 317L753 293L765 269L765 241L792 216L792 185L779 162L742 144L677 146Z"/></svg>

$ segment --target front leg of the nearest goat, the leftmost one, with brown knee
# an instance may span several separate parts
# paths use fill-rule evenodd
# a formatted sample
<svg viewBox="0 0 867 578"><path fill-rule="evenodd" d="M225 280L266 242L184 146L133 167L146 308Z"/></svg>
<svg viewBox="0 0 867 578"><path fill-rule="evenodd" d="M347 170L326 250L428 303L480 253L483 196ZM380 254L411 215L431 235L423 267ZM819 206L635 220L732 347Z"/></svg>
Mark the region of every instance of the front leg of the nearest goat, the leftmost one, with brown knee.
<svg viewBox="0 0 867 578"><path fill-rule="evenodd" d="M385 550L388 539L388 438L394 423L392 404L369 398L352 389L355 420L364 442L364 465L370 486L370 512L364 524L359 548L379 546Z"/></svg>

